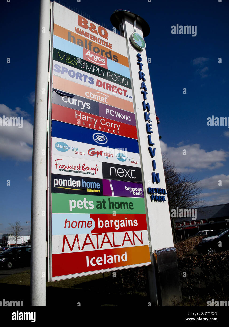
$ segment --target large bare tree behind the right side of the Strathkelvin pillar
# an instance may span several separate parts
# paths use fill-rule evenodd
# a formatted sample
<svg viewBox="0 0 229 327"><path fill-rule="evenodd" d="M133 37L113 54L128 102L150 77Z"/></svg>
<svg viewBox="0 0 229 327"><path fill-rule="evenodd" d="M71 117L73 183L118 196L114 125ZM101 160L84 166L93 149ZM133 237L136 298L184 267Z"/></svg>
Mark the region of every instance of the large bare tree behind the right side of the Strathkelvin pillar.
<svg viewBox="0 0 229 327"><path fill-rule="evenodd" d="M171 210L177 207L182 209L201 206L204 199L200 198L202 187L199 181L192 176L179 173L174 163L163 155L163 167L167 188L167 198L170 209L173 242L177 243L175 217L171 217Z"/></svg>

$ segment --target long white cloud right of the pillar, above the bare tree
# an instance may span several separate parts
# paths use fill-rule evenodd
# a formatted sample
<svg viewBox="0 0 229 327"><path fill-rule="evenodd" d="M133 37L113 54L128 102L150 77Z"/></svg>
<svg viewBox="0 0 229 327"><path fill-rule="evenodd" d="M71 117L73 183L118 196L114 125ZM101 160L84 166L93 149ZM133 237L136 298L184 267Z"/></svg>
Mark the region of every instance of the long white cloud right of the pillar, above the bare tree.
<svg viewBox="0 0 229 327"><path fill-rule="evenodd" d="M206 152L200 148L200 144L182 145L178 147L169 147L163 141L160 141L161 152L166 153L171 162L175 164L179 172L194 172L202 169L216 169L223 166L228 153L224 150L213 150ZM187 155L183 155L183 150Z"/></svg>

